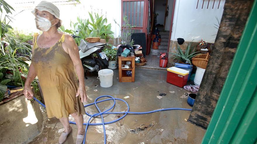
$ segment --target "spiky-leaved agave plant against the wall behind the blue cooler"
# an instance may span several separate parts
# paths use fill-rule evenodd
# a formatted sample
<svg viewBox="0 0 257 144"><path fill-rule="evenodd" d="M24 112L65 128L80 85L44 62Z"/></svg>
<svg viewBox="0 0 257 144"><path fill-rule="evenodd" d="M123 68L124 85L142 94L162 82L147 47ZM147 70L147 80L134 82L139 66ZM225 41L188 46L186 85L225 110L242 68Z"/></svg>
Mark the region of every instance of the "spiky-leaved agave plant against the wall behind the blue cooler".
<svg viewBox="0 0 257 144"><path fill-rule="evenodd" d="M183 63L190 63L191 65L191 59L195 56L198 56L200 51L196 51L195 47L193 46L191 47L192 42L190 42L187 45L187 49L185 50L185 52L182 51L182 49L180 48L180 46L177 44L177 48L178 48L178 52L173 54L175 55L175 58L173 59L178 59L180 61L182 61Z"/></svg>

